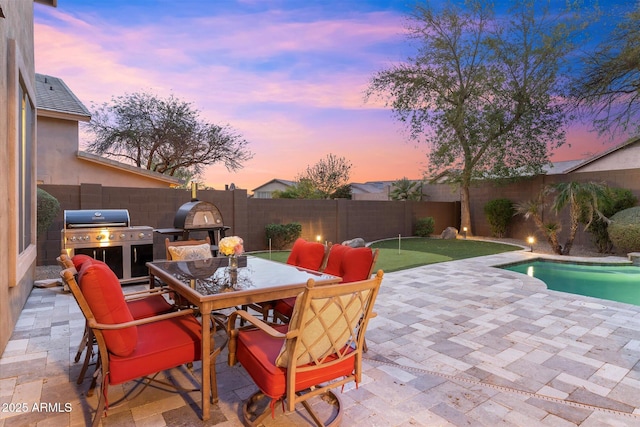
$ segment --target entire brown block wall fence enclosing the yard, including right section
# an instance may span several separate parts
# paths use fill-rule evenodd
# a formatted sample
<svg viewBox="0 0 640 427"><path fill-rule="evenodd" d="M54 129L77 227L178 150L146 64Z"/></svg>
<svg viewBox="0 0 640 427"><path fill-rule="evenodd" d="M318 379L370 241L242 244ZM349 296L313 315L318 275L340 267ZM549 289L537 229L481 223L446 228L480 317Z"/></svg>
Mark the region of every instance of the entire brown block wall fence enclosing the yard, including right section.
<svg viewBox="0 0 640 427"><path fill-rule="evenodd" d="M471 227L476 236L491 236L489 224L484 215L484 205L490 200L507 198L514 203L524 202L537 196L548 184L567 181L594 181L611 187L630 189L640 199L640 168L601 172L573 172L569 175L539 175L521 179L508 184L478 182L470 189ZM441 187L445 187L440 185ZM169 188L121 188L104 187L99 184L79 186L41 185L42 189L58 199L61 212L46 235L38 236L38 265L55 264L60 253L60 230L63 228L62 211L65 209L128 209L132 225L147 225L153 228L173 227L173 218L178 208L191 200L187 190ZM429 194L426 186L426 202L369 201L369 200L290 200L290 199L253 199L247 198L246 190L198 191L198 199L211 202L222 213L225 225L230 232L241 236L248 251L267 249L265 226L270 223L302 224L302 237L315 240L321 236L328 242L342 242L355 237L366 241L413 235L416 219L432 216L435 219L434 233L439 234L445 228L460 227L460 203L450 201L451 187L446 190L447 201L435 201L438 194ZM445 194L445 193L443 193ZM543 219L560 221L565 230L560 233L564 243L568 231L568 209L558 218L548 206L547 200ZM192 233L195 237L204 237L205 233ZM535 236L538 244L546 244L544 236L539 235L533 221L518 215L513 218L507 237L525 241ZM154 256L164 258L165 236L155 233ZM576 245L589 246L591 235L581 226L575 240Z"/></svg>

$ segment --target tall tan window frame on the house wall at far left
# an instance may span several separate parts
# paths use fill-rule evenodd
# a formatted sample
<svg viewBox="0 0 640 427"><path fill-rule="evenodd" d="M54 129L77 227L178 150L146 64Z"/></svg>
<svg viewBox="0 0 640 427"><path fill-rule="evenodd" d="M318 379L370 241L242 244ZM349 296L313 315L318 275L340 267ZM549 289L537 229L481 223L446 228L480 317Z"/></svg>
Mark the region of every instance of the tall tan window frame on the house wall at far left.
<svg viewBox="0 0 640 427"><path fill-rule="evenodd" d="M8 40L8 75L7 75L7 88L8 88L8 108L7 108L7 154L8 154L8 189L9 189L9 230L8 236L8 267L9 267L9 287L17 286L27 275L31 267L36 261L37 257L37 236L36 236L36 222L37 222L37 200L36 200L36 127L37 127L37 109L36 109L36 92L33 85L35 78L33 72L29 72L29 68L24 60L24 56L21 54L18 44L15 39ZM22 116L22 97L29 99L29 104L33 110L33 120L30 126L23 130L21 129L23 123ZM26 150L27 158L26 169L19 164L21 159L22 141L20 137L26 134L31 136L31 140L27 141L29 145ZM20 178L22 171L25 171L25 179ZM24 183L25 188L20 188ZM28 187L28 188L27 188ZM24 192L23 192L24 191ZM20 225L21 215L23 210L20 203L23 200L20 196L23 194L24 203L28 204L27 210L29 214L29 224L23 225L29 229L29 239L24 242L24 248L20 250Z"/></svg>

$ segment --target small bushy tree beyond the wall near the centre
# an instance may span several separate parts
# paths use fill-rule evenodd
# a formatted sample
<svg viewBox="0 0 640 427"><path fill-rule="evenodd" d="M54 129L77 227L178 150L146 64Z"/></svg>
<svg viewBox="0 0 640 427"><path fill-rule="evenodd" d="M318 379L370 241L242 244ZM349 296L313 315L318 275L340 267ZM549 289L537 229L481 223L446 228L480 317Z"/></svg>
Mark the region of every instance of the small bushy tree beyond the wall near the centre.
<svg viewBox="0 0 640 427"><path fill-rule="evenodd" d="M318 163L307 166L298 178L298 182L307 181L323 199L328 199L340 187L346 185L351 176L351 162L344 157L328 154Z"/></svg>

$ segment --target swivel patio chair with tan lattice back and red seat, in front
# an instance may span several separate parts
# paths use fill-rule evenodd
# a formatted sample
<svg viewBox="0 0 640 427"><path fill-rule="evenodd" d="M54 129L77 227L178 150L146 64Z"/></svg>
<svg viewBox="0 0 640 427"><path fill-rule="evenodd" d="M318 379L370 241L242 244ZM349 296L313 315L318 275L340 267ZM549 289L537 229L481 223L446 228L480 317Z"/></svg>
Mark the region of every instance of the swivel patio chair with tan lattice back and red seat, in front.
<svg viewBox="0 0 640 427"><path fill-rule="evenodd" d="M288 325L270 326L246 311L229 317L229 365L240 362L259 388L243 404L245 425L275 417L280 400L288 412L302 403L317 425L339 424L341 403L331 389L361 380L364 333L383 275L318 287L310 279ZM251 325L236 328L237 317ZM319 395L333 405L328 419L308 402Z"/></svg>

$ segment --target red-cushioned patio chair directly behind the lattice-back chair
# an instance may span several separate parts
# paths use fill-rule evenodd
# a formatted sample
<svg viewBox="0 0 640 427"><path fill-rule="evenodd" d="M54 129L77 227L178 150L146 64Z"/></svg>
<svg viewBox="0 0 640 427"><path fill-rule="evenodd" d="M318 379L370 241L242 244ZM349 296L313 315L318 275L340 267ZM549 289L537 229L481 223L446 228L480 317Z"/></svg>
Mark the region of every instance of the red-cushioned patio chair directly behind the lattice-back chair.
<svg viewBox="0 0 640 427"><path fill-rule="evenodd" d="M356 282L371 277L378 259L379 250L371 248L352 248L341 244L329 249L324 273L342 278L341 283ZM273 317L288 322L293 312L296 297L278 300L273 306Z"/></svg>

